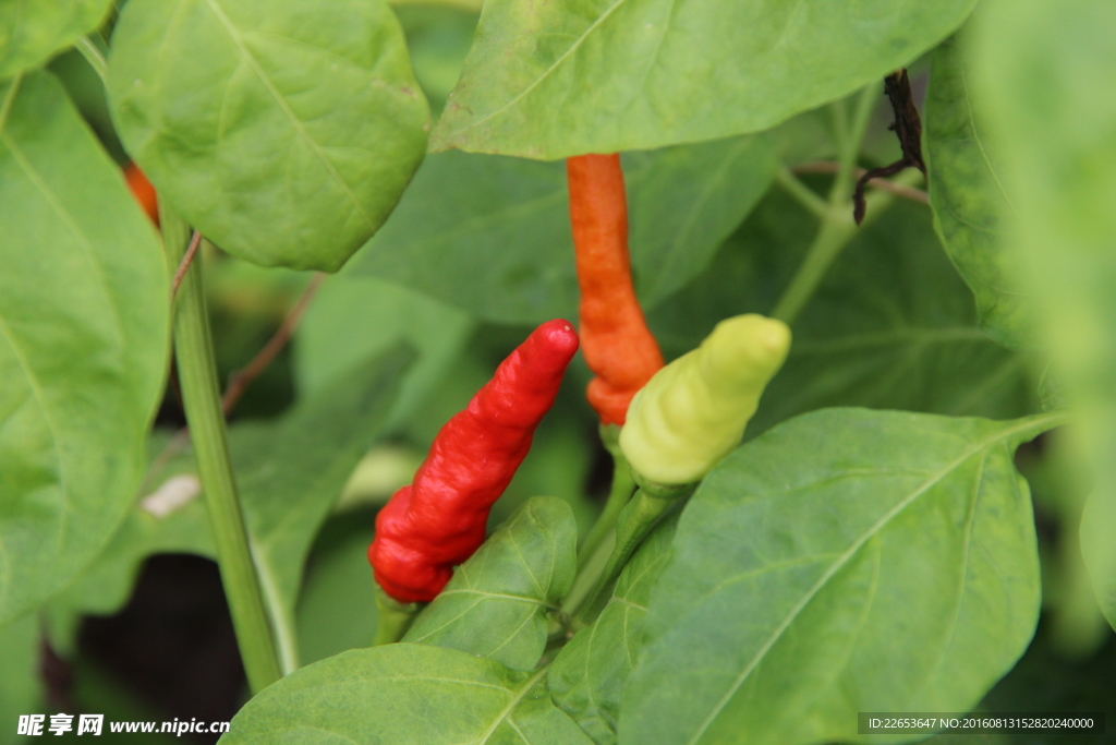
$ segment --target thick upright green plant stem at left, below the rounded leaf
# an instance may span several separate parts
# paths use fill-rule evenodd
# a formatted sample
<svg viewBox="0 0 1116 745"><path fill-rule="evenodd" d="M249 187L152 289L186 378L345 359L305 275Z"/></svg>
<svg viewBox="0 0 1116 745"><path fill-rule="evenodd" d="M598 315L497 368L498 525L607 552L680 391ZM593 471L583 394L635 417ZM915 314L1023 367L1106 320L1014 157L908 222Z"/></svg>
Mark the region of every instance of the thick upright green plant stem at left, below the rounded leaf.
<svg viewBox="0 0 1116 745"><path fill-rule="evenodd" d="M176 214L162 206L160 220L169 261L171 266L176 266L185 254L190 230ZM257 693L282 676L229 462L200 259L198 257L191 264L179 288L174 351L198 474L217 545L221 582L229 600L248 685Z"/></svg>

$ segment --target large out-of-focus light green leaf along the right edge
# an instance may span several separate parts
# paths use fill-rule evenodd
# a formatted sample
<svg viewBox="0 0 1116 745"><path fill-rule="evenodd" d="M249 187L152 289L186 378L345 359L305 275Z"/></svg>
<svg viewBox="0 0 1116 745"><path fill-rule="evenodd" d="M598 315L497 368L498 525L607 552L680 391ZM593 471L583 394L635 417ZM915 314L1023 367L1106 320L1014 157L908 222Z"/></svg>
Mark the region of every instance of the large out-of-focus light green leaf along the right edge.
<svg viewBox="0 0 1116 745"><path fill-rule="evenodd" d="M1040 340L1091 458L1081 541L1113 619L1116 499L1116 7L987 2L970 58L974 102L1003 154L1016 210L1008 246L1033 293ZM1103 535L1097 536L1096 531ZM1098 541L1099 537L1099 541Z"/></svg>

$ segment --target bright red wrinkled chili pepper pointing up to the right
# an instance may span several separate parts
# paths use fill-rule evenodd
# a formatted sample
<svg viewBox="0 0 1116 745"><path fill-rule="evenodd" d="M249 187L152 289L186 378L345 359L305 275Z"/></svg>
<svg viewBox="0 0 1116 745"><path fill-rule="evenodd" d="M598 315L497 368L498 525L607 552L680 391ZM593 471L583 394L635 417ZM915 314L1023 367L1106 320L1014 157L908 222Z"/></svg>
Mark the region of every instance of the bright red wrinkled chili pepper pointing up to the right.
<svg viewBox="0 0 1116 745"><path fill-rule="evenodd" d="M439 431L412 484L376 517L368 561L391 598L433 600L484 542L489 510L530 450L577 347L568 322L542 324Z"/></svg>

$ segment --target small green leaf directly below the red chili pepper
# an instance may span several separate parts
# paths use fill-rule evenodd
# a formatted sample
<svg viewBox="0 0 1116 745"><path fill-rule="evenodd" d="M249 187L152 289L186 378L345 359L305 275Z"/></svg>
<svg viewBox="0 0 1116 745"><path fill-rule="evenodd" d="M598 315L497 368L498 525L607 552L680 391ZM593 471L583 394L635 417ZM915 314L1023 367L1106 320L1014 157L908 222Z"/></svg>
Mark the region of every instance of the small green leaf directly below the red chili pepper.
<svg viewBox="0 0 1116 745"><path fill-rule="evenodd" d="M547 646L547 614L576 572L574 512L556 497L535 497L456 569L403 641L530 670Z"/></svg>

